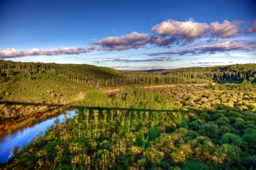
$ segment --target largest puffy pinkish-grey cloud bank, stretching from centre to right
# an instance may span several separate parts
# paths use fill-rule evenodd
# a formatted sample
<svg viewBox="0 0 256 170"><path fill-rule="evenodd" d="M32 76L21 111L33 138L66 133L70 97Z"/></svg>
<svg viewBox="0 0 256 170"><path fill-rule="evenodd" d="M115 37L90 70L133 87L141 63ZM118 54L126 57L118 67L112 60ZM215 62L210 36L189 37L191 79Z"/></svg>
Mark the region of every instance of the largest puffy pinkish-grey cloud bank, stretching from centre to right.
<svg viewBox="0 0 256 170"><path fill-rule="evenodd" d="M102 51L137 49L145 47L147 44L160 47L172 47L175 44L192 47L198 43L191 44L191 42L208 35L208 33L212 35L212 38L234 37L241 32L238 25L239 22L229 22L228 20L224 20L223 23L212 22L209 25L195 22L192 18L185 22L169 19L152 27L151 30L157 33L156 35L150 36L146 33L132 32L124 36L95 40L92 44Z"/></svg>

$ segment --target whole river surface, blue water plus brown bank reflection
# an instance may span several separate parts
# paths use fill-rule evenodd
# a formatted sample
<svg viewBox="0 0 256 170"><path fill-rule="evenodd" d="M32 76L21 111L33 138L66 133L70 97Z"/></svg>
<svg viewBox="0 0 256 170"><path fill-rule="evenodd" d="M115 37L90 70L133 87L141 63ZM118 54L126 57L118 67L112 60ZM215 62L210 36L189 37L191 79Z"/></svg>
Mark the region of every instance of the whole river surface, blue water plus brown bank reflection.
<svg viewBox="0 0 256 170"><path fill-rule="evenodd" d="M53 109L45 113L35 114L5 121L0 125L0 162L8 161L10 150L14 146L23 147L24 144L30 143L39 132L43 132L51 126L58 118L60 122L72 118L76 110L60 111Z"/></svg>

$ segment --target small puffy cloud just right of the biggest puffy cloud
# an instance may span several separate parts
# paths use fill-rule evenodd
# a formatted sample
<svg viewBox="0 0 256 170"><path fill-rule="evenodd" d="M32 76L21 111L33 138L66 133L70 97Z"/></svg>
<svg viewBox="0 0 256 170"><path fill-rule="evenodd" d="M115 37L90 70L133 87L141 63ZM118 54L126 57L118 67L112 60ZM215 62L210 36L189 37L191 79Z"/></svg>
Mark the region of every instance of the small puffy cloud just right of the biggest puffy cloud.
<svg viewBox="0 0 256 170"><path fill-rule="evenodd" d="M223 23L213 22L210 25L211 34L221 38L231 38L240 32L237 22L225 20Z"/></svg>

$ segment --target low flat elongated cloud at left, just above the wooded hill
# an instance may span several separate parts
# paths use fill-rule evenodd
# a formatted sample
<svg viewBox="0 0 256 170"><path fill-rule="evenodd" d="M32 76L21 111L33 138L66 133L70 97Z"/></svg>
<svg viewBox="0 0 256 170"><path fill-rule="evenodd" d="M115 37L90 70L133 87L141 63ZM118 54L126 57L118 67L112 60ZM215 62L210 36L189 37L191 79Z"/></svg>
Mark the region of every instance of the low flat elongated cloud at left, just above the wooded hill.
<svg viewBox="0 0 256 170"><path fill-rule="evenodd" d="M33 48L26 51L16 51L15 48L6 48L0 51L0 59L17 58L21 56L34 56L34 55L64 55L64 54L81 54L90 52L92 48L86 49L83 47L78 48L58 48L50 51L41 51L39 48Z"/></svg>

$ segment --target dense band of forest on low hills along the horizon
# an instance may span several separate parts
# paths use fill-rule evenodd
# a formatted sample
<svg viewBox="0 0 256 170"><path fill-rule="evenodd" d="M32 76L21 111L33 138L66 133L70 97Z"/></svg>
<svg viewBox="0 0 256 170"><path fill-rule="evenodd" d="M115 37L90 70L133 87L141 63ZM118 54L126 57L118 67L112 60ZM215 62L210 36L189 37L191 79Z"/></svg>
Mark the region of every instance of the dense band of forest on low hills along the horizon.
<svg viewBox="0 0 256 170"><path fill-rule="evenodd" d="M56 63L33 63L0 61L1 80L22 74L28 79L34 74L52 72L63 76L67 80L77 83L90 83L98 87L117 87L124 85L170 84L185 83L194 79L215 80L218 82L242 82L249 80L255 83L256 64L216 66L216 67L190 67L164 70L161 72L119 72L112 68L92 65L72 65Z"/></svg>

